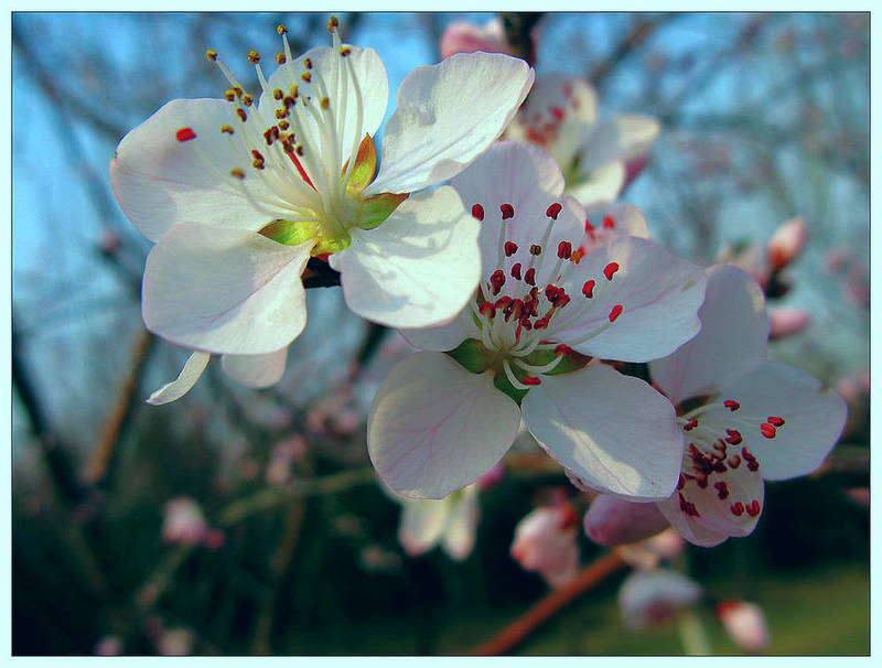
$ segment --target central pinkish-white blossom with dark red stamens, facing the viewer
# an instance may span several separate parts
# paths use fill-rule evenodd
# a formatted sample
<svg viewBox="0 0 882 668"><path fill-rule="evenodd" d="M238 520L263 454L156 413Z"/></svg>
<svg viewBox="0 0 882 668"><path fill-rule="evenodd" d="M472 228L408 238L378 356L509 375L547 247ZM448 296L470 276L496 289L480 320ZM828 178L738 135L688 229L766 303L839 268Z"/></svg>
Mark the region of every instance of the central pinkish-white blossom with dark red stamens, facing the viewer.
<svg viewBox="0 0 882 668"><path fill-rule="evenodd" d="M583 255L584 212L535 147L495 144L451 185L482 222L484 280L450 324L401 330L424 352L374 398L368 452L380 477L404 496L447 496L502 459L523 416L591 487L668 496L682 451L673 407L599 359L647 362L692 337L704 272L637 237Z"/></svg>

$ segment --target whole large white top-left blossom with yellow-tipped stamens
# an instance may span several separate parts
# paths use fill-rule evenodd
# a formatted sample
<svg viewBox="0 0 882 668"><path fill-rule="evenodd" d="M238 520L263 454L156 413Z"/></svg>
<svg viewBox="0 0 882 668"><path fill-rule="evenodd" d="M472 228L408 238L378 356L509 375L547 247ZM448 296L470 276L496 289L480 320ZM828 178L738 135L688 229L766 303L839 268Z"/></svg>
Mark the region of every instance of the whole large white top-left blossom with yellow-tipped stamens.
<svg viewBox="0 0 882 668"><path fill-rule="evenodd" d="M301 276L327 261L359 315L397 327L449 321L480 273L476 222L451 187L509 120L534 73L503 54L456 54L413 71L386 125L370 49L341 42L293 57L247 94L217 53L226 99L176 99L129 132L110 164L122 211L155 246L142 290L148 328L195 351L152 403L186 392L209 354L254 387L276 383L306 323ZM421 191L421 192L417 192Z"/></svg>

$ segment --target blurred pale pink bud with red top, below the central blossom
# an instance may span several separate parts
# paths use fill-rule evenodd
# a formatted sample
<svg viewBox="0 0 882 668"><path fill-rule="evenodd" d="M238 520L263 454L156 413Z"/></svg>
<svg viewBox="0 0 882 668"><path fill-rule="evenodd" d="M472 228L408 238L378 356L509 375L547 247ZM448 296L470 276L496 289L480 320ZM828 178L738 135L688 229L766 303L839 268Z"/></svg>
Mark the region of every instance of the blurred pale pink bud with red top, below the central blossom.
<svg viewBox="0 0 882 668"><path fill-rule="evenodd" d="M541 574L549 585L563 586L576 577L579 565L578 521L569 504L537 508L517 524L512 557L521 568Z"/></svg>

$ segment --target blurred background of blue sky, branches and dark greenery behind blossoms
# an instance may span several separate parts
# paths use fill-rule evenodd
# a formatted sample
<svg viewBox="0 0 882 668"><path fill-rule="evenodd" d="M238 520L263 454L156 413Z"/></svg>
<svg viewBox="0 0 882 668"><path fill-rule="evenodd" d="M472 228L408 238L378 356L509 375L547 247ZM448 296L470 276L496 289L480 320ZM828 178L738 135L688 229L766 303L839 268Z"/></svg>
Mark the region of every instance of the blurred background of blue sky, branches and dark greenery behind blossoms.
<svg viewBox="0 0 882 668"><path fill-rule="evenodd" d="M491 18L340 14L391 90L439 60L451 23ZM528 442L481 492L464 562L406 554L364 432L407 346L349 313L337 288L309 291L278 386L249 390L212 363L185 398L143 402L186 352L143 328L150 244L114 200L114 149L170 99L223 95L206 49L258 89L247 52L278 51L280 22L298 51L326 44L326 21L13 14L14 654L470 654L549 591L509 557L515 525L555 494L587 499ZM770 308L808 324L771 356L836 387L849 423L821 471L767 486L752 536L677 557L704 590L693 621L716 653L742 651L716 622L727 599L763 607L766 653L869 653L869 36L859 13L552 13L534 29L539 76L584 76L602 115L660 120L623 196L659 243L750 263L805 217L807 246ZM605 551L579 541L584 564ZM513 650L682 653L676 623L626 628L625 572Z"/></svg>

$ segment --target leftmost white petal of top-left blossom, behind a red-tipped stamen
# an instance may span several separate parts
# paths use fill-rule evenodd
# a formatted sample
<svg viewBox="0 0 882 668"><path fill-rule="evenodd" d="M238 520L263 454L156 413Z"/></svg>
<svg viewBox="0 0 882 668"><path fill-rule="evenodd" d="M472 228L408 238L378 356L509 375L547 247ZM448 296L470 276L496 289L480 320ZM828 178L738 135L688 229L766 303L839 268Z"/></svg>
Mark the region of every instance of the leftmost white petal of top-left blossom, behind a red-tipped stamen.
<svg viewBox="0 0 882 668"><path fill-rule="evenodd" d="M245 196L243 187L255 200L278 201L260 179L239 181L229 173L233 168L250 169L220 132L223 125L241 125L234 109L226 100L175 99L119 142L110 184L125 214L151 241L182 220L259 229L286 217L282 209L257 207ZM196 139L178 141L183 128L191 128Z"/></svg>

